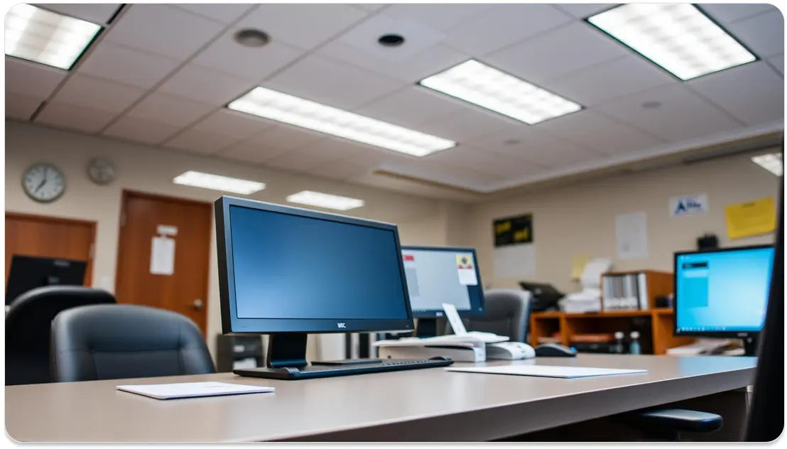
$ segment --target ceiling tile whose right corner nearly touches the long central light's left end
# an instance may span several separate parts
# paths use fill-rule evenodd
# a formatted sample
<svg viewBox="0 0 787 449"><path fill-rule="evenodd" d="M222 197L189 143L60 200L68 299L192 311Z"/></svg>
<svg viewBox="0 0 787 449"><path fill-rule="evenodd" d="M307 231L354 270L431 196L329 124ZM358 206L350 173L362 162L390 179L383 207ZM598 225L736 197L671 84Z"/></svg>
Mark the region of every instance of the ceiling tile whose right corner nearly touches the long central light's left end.
<svg viewBox="0 0 787 449"><path fill-rule="evenodd" d="M205 116L213 107L187 98L153 92L142 102L139 102L134 109L131 109L128 115L183 127Z"/></svg>

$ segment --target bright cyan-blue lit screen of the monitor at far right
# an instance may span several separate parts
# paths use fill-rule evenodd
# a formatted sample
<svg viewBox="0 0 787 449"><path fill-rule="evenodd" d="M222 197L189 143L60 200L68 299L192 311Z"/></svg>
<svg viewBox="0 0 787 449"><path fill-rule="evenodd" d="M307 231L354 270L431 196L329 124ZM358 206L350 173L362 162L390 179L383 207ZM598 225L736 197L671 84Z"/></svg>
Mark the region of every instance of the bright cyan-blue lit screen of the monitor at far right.
<svg viewBox="0 0 787 449"><path fill-rule="evenodd" d="M758 332L773 263L773 247L677 254L678 331Z"/></svg>

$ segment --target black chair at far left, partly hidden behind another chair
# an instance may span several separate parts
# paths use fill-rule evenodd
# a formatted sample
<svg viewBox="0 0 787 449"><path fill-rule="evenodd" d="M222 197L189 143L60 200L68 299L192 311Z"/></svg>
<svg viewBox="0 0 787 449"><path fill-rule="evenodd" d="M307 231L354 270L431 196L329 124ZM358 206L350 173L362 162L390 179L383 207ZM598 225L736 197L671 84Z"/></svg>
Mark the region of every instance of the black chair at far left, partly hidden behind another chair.
<svg viewBox="0 0 787 449"><path fill-rule="evenodd" d="M20 295L6 314L6 385L52 381L50 332L57 314L79 306L114 303L108 291L65 285L34 288Z"/></svg>

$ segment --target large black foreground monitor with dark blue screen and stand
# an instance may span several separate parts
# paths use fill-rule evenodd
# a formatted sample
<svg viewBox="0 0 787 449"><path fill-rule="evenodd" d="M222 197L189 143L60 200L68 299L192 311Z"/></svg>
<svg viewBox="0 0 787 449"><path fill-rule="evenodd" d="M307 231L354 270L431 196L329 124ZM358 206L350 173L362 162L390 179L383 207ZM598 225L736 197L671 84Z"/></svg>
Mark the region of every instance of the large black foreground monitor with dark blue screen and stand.
<svg viewBox="0 0 787 449"><path fill-rule="evenodd" d="M396 225L227 196L215 212L222 331L269 334L269 367L305 366L309 333L412 331Z"/></svg>

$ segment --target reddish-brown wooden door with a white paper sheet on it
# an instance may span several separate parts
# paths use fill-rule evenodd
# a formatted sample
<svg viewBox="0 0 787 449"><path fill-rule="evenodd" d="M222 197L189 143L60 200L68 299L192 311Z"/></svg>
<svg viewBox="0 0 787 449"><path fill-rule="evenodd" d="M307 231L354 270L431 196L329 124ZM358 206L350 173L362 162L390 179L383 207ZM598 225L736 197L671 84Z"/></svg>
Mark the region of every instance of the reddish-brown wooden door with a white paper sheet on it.
<svg viewBox="0 0 787 449"><path fill-rule="evenodd" d="M212 204L124 191L120 212L117 302L186 315L205 333ZM151 254L159 227L177 230L172 274L153 274Z"/></svg>

